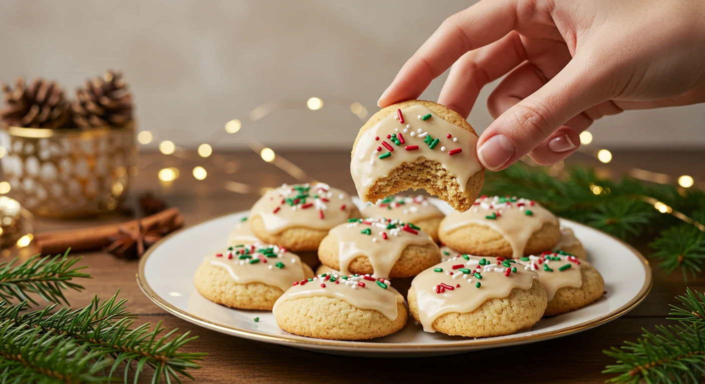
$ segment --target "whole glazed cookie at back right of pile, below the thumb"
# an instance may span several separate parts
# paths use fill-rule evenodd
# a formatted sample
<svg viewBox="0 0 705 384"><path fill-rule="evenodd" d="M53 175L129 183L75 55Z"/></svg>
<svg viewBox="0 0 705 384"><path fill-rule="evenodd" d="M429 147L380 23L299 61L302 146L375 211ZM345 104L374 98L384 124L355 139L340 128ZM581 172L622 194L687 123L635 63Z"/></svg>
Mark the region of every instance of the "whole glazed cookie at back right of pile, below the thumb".
<svg viewBox="0 0 705 384"><path fill-rule="evenodd" d="M465 212L441 221L443 244L465 254L518 259L553 249L558 218L533 200L482 196Z"/></svg>

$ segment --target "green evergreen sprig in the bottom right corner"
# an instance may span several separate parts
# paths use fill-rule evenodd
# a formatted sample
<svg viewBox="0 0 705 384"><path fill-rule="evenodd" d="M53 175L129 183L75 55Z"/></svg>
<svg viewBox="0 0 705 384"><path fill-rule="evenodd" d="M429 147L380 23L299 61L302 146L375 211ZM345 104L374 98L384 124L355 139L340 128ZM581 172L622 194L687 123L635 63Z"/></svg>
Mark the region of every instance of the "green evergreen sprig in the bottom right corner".
<svg viewBox="0 0 705 384"><path fill-rule="evenodd" d="M618 373L608 383L700 383L705 375L705 296L687 289L677 297L682 306L671 305L670 320L676 325L656 326L637 342L603 351L617 360L603 373Z"/></svg>

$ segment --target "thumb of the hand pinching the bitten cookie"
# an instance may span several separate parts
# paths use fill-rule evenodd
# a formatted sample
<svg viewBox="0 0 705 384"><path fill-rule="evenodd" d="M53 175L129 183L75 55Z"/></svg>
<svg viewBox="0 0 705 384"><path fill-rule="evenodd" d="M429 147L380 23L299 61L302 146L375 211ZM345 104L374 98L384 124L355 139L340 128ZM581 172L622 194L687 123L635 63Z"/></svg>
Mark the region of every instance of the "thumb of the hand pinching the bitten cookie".
<svg viewBox="0 0 705 384"><path fill-rule="evenodd" d="M482 132L477 157L485 168L507 168L570 118L610 98L610 71L593 68L599 62L595 56L599 55L576 55L546 85L502 113Z"/></svg>

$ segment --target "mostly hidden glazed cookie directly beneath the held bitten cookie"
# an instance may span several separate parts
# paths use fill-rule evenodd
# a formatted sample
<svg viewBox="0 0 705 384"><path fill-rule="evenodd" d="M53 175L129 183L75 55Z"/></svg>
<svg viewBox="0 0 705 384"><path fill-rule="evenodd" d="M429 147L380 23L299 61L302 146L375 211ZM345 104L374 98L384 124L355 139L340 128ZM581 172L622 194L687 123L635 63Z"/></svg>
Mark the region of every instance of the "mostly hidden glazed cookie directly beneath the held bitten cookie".
<svg viewBox="0 0 705 384"><path fill-rule="evenodd" d="M414 223L425 233L431 235L434 242L439 241L439 224L446 216L434 204L423 196L388 196L377 204L366 203L362 209L364 217L396 218L407 223Z"/></svg>

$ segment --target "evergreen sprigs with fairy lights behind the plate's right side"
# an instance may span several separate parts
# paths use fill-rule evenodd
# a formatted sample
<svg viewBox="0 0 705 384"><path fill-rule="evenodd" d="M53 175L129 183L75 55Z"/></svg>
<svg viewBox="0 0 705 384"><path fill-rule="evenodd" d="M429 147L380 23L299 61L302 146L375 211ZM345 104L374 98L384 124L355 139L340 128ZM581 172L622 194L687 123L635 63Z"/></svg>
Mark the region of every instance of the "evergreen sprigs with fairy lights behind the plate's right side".
<svg viewBox="0 0 705 384"><path fill-rule="evenodd" d="M591 168L577 167L562 175L548 168L515 164L504 171L489 173L484 194L504 195L507 191L537 200L558 216L630 240L654 237L651 255L666 273L682 271L695 275L705 270L705 192L696 188L644 182L635 178L611 180L599 177ZM656 209L656 202L666 213ZM670 212L692 219L687 223Z"/></svg>

